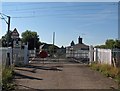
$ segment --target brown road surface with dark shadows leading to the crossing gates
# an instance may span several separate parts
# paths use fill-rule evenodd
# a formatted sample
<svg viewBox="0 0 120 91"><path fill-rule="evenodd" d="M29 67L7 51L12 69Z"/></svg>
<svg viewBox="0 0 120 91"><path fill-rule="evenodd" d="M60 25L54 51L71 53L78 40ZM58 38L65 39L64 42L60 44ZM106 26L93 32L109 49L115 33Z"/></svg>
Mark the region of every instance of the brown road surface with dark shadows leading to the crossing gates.
<svg viewBox="0 0 120 91"><path fill-rule="evenodd" d="M31 64L16 67L18 89L110 89L115 81L83 64Z"/></svg>

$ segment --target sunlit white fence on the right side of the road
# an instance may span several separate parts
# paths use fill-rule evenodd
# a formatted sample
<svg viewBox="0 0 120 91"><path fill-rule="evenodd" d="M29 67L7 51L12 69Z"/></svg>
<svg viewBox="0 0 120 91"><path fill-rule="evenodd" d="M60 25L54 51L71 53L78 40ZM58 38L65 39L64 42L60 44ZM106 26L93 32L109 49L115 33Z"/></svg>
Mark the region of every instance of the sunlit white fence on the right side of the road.
<svg viewBox="0 0 120 91"><path fill-rule="evenodd" d="M120 51L113 51L111 49L93 48L92 46L90 46L89 49L90 49L89 50L90 63L96 61L101 64L115 65L116 61L117 62L120 61L119 60ZM117 55L116 57L115 54ZM117 60L115 60L115 58L117 58Z"/></svg>

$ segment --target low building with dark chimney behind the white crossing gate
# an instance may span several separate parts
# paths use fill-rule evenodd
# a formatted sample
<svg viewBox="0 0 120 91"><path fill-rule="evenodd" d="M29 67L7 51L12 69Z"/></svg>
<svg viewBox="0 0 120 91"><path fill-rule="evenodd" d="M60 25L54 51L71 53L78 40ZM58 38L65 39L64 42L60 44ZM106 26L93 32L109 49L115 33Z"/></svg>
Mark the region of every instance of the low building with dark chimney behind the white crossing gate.
<svg viewBox="0 0 120 91"><path fill-rule="evenodd" d="M82 42L82 38L79 36L78 38L78 44L74 44L74 42L71 42L71 45L66 47L66 57L72 57L72 58L88 58L89 54L89 46L85 45Z"/></svg>

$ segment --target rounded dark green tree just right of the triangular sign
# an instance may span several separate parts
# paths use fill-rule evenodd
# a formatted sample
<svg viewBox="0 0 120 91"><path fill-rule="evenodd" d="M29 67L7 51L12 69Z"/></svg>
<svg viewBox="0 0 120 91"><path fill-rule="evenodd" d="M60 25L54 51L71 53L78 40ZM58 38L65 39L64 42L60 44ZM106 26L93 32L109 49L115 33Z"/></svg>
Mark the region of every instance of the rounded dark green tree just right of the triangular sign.
<svg viewBox="0 0 120 91"><path fill-rule="evenodd" d="M34 49L39 48L40 42L39 42L39 36L37 32L26 30L22 33L22 42L27 43L28 42L28 49Z"/></svg>

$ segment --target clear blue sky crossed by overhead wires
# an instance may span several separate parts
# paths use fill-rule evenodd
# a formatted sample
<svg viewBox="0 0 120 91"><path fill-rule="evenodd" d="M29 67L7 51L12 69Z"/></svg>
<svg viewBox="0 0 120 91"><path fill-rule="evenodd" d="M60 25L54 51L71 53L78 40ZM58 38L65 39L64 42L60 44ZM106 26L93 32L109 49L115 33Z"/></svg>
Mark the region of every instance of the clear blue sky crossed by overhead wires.
<svg viewBox="0 0 120 91"><path fill-rule="evenodd" d="M117 2L2 2L2 13L11 17L11 30L36 31L41 42L52 44L55 32L59 47L69 46L72 40L77 44L79 36L87 45L118 38ZM0 21L1 37L7 24Z"/></svg>

